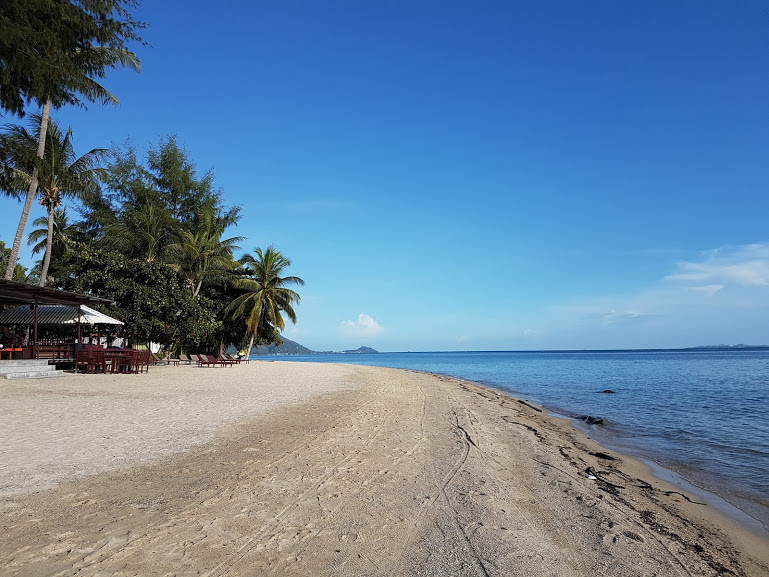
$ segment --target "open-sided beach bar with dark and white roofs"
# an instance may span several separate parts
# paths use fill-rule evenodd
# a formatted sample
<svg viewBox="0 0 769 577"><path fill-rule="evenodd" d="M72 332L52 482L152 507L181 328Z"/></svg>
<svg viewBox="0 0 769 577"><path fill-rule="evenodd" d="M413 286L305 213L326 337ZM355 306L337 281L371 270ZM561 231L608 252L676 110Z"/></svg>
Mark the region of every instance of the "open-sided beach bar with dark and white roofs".
<svg viewBox="0 0 769 577"><path fill-rule="evenodd" d="M88 307L89 304L114 304L114 301L0 279L0 305L16 305L15 308L0 313L0 325L26 324L32 327L32 343L23 347L12 347L13 350L8 351L9 357L20 355L22 358L31 359L74 358L75 343L38 343L38 325L41 324L76 325L78 343L82 343L81 325L84 323L123 324Z"/></svg>

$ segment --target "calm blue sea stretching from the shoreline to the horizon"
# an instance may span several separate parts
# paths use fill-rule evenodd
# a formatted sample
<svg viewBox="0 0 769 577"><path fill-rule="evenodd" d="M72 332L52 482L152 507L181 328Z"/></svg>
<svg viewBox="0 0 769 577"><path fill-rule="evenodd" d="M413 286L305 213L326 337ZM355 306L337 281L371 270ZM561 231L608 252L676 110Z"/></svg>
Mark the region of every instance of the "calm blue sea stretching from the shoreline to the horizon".
<svg viewBox="0 0 769 577"><path fill-rule="evenodd" d="M276 357L271 357L276 358ZM676 471L769 526L769 351L447 352L279 360L441 373L509 391L601 444ZM602 393L611 389L614 394ZM579 421L581 423L581 421Z"/></svg>

